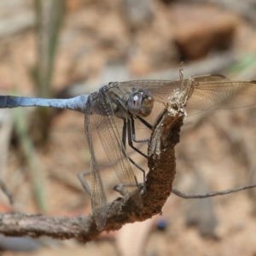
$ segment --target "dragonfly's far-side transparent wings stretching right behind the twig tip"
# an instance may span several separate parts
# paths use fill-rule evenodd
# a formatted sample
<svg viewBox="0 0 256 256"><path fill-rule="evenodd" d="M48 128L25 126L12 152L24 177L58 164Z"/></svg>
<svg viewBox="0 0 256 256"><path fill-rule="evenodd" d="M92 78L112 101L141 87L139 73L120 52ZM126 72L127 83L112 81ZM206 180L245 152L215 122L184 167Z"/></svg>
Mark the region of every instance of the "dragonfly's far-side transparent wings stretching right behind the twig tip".
<svg viewBox="0 0 256 256"><path fill-rule="evenodd" d="M244 108L256 104L256 82L233 82L221 75L195 77L195 90L189 98L188 110ZM183 80L186 85L188 79ZM143 87L150 90L156 101L166 102L173 90L181 89L180 81L137 80L119 83L119 86Z"/></svg>

